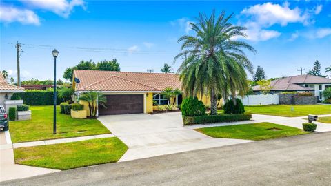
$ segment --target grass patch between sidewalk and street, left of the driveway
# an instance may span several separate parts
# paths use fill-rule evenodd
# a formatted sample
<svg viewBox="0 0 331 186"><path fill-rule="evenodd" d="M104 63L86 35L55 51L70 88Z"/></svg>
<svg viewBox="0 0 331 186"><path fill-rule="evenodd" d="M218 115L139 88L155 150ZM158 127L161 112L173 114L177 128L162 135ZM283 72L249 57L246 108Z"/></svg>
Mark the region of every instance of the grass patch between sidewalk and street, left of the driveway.
<svg viewBox="0 0 331 186"><path fill-rule="evenodd" d="M72 143L14 149L15 163L51 169L74 169L119 161L128 147L119 138L98 138Z"/></svg>

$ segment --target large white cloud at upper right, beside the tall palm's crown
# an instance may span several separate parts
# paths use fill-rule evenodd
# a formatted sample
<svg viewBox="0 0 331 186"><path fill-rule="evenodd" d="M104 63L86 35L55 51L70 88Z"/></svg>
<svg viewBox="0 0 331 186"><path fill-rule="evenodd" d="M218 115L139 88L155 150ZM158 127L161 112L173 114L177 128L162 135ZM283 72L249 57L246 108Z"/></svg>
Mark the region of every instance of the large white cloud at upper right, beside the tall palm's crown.
<svg viewBox="0 0 331 186"><path fill-rule="evenodd" d="M241 14L248 15L254 22L265 27L277 23L282 26L298 22L308 24L310 18L307 12L303 12L298 7L291 9L289 3L283 3L282 6L270 2L257 4L243 9Z"/></svg>

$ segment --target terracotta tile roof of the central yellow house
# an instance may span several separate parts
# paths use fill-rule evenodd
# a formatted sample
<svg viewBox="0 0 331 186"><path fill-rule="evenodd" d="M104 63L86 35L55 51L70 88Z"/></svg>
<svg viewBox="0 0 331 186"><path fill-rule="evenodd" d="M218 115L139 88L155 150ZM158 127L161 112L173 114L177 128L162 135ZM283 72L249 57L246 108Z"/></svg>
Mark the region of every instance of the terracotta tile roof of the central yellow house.
<svg viewBox="0 0 331 186"><path fill-rule="evenodd" d="M81 91L159 92L166 87L181 88L177 74L74 70L74 77L80 80L75 90Z"/></svg>

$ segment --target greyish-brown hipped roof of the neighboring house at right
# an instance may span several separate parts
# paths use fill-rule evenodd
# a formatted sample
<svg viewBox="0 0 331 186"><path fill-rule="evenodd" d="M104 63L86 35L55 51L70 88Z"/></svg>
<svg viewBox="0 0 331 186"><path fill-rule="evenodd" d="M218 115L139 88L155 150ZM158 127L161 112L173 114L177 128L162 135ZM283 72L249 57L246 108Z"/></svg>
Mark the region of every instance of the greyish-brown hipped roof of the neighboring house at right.
<svg viewBox="0 0 331 186"><path fill-rule="evenodd" d="M295 91L295 90L314 90L310 87L303 87L303 84L328 84L331 83L331 79L323 78L319 76L312 75L299 75L299 76L289 76L282 79L276 79L271 81L272 90L278 91ZM253 87L254 91L261 90L259 85Z"/></svg>

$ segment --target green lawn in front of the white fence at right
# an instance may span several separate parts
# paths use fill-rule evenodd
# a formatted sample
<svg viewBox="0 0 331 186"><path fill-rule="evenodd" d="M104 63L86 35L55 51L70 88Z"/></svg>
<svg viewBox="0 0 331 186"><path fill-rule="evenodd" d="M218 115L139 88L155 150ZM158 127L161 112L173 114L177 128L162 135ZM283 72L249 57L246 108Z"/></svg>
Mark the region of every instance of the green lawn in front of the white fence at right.
<svg viewBox="0 0 331 186"><path fill-rule="evenodd" d="M293 111L291 108L293 107ZM245 114L272 116L307 116L308 114L331 114L331 105L257 105L245 106Z"/></svg>

